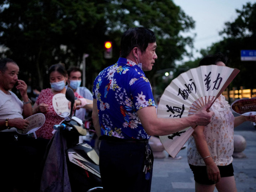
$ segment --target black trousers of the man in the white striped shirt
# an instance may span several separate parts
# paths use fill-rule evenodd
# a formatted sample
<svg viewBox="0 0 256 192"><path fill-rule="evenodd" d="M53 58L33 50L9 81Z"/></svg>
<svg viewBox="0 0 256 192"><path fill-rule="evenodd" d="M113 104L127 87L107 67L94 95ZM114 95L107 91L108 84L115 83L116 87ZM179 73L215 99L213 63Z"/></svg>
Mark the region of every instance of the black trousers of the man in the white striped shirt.
<svg viewBox="0 0 256 192"><path fill-rule="evenodd" d="M5 192L35 192L36 173L40 168L48 140L16 132L0 132L1 189Z"/></svg>

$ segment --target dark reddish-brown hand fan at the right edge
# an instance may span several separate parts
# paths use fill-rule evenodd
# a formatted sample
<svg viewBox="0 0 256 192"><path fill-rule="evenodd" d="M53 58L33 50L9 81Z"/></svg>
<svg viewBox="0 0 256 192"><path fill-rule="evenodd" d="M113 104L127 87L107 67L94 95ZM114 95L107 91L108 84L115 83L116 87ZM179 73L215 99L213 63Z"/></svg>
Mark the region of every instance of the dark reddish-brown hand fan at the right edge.
<svg viewBox="0 0 256 192"><path fill-rule="evenodd" d="M231 109L239 115L256 115L256 97L251 99L237 99L231 104Z"/></svg>

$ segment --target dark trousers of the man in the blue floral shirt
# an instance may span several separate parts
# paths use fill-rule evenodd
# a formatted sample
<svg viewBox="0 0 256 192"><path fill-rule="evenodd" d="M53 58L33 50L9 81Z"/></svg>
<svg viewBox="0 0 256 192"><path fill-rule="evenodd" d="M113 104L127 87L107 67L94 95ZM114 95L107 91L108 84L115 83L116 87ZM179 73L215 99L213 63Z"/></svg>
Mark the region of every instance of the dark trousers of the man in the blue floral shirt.
<svg viewBox="0 0 256 192"><path fill-rule="evenodd" d="M106 192L150 192L152 171L146 180L143 172L148 143L126 143L102 140L100 174ZM151 150L152 165L154 157Z"/></svg>

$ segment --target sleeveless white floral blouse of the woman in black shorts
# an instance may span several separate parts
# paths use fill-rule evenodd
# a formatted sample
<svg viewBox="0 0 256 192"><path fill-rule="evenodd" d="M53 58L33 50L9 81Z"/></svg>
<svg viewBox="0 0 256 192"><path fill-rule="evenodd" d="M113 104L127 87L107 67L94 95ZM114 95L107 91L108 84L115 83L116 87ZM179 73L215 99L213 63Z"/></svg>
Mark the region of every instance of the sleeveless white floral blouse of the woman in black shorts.
<svg viewBox="0 0 256 192"><path fill-rule="evenodd" d="M233 161L234 116L223 95L216 99L210 110L214 111L215 114L211 123L204 127L204 136L213 161L218 166L226 166ZM205 166L192 136L188 141L187 157L189 164Z"/></svg>

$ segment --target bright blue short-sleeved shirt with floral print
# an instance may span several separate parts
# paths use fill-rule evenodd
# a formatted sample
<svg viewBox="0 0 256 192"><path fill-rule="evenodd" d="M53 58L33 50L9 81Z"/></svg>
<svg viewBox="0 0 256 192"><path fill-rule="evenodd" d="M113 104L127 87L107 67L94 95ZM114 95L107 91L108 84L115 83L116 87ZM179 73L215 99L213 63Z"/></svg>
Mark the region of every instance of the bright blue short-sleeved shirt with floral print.
<svg viewBox="0 0 256 192"><path fill-rule="evenodd" d="M156 106L151 85L133 61L118 62L99 73L93 84L102 135L124 139L149 139L137 111Z"/></svg>

